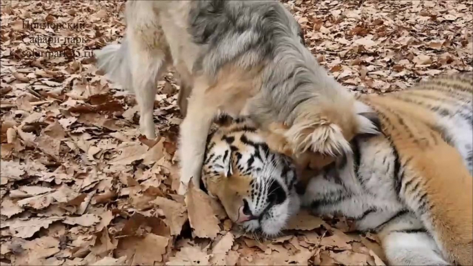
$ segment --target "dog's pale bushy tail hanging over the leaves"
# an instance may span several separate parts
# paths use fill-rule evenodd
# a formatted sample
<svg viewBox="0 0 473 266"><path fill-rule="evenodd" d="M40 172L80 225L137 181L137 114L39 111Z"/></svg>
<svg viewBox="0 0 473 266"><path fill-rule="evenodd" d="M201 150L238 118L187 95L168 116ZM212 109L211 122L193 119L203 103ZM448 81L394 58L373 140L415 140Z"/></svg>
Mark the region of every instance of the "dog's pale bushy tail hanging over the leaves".
<svg viewBox="0 0 473 266"><path fill-rule="evenodd" d="M126 37L121 44L109 44L94 51L97 68L113 83L118 83L126 90L132 90L132 71L130 52Z"/></svg>

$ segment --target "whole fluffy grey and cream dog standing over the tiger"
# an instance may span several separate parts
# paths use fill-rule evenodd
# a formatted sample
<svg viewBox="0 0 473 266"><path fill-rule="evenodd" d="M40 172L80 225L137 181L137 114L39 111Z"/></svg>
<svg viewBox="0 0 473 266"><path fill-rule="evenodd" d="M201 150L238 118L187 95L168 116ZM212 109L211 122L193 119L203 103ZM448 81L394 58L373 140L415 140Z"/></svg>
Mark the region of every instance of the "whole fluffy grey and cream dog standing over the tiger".
<svg viewBox="0 0 473 266"><path fill-rule="evenodd" d="M176 68L186 114L179 193L192 176L198 184L205 139L220 111L250 114L263 130L287 126L295 153L350 152L355 134L375 131L305 48L299 24L278 1L128 1L125 8L125 40L98 51L98 66L136 94L148 139L155 136L156 83Z"/></svg>

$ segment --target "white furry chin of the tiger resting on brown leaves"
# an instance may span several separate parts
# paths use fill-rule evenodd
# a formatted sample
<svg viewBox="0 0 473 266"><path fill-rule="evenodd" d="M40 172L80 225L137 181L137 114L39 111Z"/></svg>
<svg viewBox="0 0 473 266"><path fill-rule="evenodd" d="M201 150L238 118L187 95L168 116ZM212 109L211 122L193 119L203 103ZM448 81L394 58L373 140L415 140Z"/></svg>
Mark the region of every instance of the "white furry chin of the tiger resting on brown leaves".
<svg viewBox="0 0 473 266"><path fill-rule="evenodd" d="M290 218L299 212L301 201L295 194L284 203L274 205L261 218L241 224L245 232L261 234L265 238L279 236L288 225Z"/></svg>

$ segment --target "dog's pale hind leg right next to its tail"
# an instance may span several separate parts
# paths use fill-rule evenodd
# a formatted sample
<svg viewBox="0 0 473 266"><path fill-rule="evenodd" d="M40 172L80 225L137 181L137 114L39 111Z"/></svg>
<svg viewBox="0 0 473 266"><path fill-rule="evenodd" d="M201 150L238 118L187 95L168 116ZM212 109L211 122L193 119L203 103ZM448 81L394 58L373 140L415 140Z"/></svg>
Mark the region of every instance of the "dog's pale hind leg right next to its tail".
<svg viewBox="0 0 473 266"><path fill-rule="evenodd" d="M157 81L167 69L165 52L149 50L141 43L131 45L132 85L140 111L139 126L141 133L148 139L156 137L153 121L154 99L156 97Z"/></svg>

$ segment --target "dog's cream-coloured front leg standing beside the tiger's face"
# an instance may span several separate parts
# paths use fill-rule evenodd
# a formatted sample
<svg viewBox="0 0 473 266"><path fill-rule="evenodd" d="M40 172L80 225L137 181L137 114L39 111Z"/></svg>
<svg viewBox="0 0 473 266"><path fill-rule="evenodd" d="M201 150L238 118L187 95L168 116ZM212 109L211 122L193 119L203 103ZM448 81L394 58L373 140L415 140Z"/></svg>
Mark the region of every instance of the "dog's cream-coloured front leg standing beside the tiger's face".
<svg viewBox="0 0 473 266"><path fill-rule="evenodd" d="M181 183L178 194L185 194L190 178L199 187L205 142L212 120L217 113L217 103L206 101L206 83L194 85L188 101L187 114L180 126L179 159Z"/></svg>

